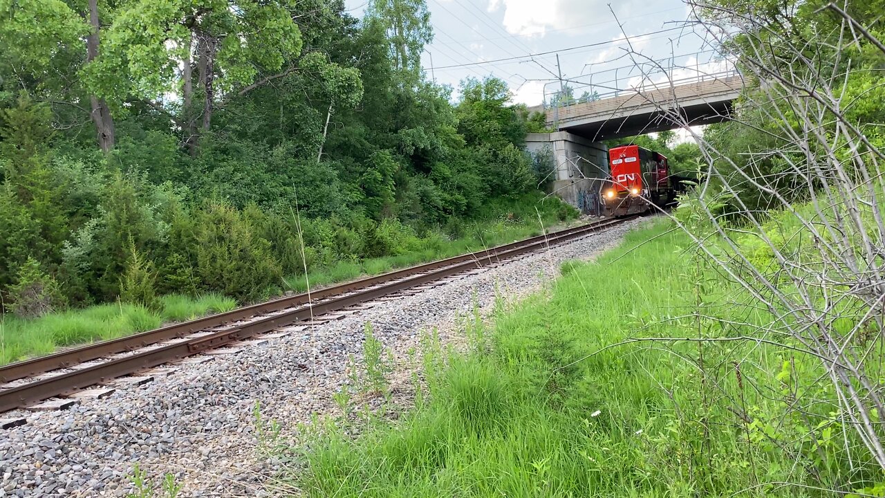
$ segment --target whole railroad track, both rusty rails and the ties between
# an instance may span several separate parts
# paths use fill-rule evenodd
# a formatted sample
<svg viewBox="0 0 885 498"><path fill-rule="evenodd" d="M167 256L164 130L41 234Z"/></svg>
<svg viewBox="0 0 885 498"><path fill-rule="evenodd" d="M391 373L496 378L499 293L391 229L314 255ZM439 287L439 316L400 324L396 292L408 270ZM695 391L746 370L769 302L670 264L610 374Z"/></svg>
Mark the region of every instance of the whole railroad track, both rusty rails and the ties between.
<svg viewBox="0 0 885 498"><path fill-rule="evenodd" d="M176 323L126 338L98 342L0 368L0 413L107 385L165 363L227 346L367 301L393 296L450 276L494 265L515 256L587 236L634 219L593 222L485 251L370 276L312 292L241 307L227 313Z"/></svg>

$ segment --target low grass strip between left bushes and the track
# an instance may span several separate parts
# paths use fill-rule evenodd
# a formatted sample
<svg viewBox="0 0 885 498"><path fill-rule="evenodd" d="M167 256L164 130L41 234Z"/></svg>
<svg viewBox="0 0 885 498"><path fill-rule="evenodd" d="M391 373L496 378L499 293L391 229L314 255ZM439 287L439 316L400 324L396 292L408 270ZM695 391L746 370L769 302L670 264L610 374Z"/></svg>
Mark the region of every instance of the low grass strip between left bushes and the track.
<svg viewBox="0 0 885 498"><path fill-rule="evenodd" d="M0 364L50 354L59 347L88 344L150 331L165 322L181 322L228 311L236 301L219 294L191 298L179 294L163 298L163 310L154 313L131 304L104 304L22 320L0 317Z"/></svg>

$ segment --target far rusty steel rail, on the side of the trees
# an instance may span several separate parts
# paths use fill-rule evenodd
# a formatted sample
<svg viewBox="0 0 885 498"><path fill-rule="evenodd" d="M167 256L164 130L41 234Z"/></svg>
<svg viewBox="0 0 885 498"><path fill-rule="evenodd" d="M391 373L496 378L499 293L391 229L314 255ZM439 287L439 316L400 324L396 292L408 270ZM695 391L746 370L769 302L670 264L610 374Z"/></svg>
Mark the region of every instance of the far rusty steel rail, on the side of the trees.
<svg viewBox="0 0 885 498"><path fill-rule="evenodd" d="M36 375L40 375L52 370L69 368L72 365L97 360L110 354L126 353L127 351L133 351L135 349L139 349L144 346L150 346L151 344L157 344L158 342L163 342L165 340L186 337L197 331L205 331L207 329L226 326L228 323L234 323L239 320L251 318L257 315L266 315L268 313L273 313L287 307L301 306L312 300L323 300L327 299L330 296L342 294L344 292L358 291L359 289L364 289L372 285L382 284L391 280L415 275L417 273L423 273L435 268L441 268L443 266L457 264L463 261L471 261L474 259L485 257L490 253L506 251L518 245L530 243L536 240L543 240L544 237L553 237L566 233L571 233L576 230L581 230L585 226L586 225L581 225L580 227L559 230L546 236L540 235L536 237L530 237L524 240L512 242L511 244L499 245L476 253L462 254L460 256L454 256L445 260L432 261L410 268L399 269L382 275L369 276L356 281L338 284L331 287L325 287L316 291L312 291L310 293L303 292L292 296L286 296L277 300L266 301L256 305L239 307L235 310L225 313L204 316L202 318L197 318L196 320L190 320L188 322L174 323L166 327L162 327L152 331L144 331L127 336L125 338L104 340L96 342L94 344L90 344L88 346L80 346L72 349L67 349L65 351L60 351L54 354L47 354L45 356L33 358L23 362L11 363L4 367L0 367L0 384L12 382L13 380L19 380L20 378L34 377Z"/></svg>

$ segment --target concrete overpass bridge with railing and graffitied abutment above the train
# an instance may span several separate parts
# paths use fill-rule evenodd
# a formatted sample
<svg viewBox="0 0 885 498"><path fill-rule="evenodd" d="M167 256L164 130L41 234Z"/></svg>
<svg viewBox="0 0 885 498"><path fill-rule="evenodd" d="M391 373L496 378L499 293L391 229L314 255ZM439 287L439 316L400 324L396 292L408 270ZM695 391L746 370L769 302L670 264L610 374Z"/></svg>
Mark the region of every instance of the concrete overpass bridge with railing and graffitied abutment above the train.
<svg viewBox="0 0 885 498"><path fill-rule="evenodd" d="M594 74L589 84L567 92L563 85L550 99L545 96L549 103L533 109L543 110L547 126L556 131L529 134L526 148L535 160L552 163L553 191L560 198L593 214L602 179L608 175L608 147L602 140L680 128L683 122L699 126L728 119L743 78L727 63L715 71L705 66L704 71L697 64L687 71L685 66L665 68L658 62L655 67L663 71L657 79L648 71L638 78L624 76L636 70L632 66L612 70L614 78L604 82ZM674 79L676 75L681 77ZM598 83L592 83L594 77ZM575 90L583 90L581 97L573 97Z"/></svg>

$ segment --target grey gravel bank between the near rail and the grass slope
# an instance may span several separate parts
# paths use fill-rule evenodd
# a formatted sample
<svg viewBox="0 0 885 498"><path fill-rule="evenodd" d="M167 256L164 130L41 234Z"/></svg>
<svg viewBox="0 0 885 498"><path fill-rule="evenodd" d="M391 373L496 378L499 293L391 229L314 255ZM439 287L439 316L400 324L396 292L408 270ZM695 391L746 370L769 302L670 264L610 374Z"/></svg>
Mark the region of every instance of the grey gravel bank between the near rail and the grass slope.
<svg viewBox="0 0 885 498"><path fill-rule="evenodd" d="M73 409L27 412L26 425L0 431L0 496L125 496L137 463L150 476L174 473L182 495L255 494L273 463L257 452L253 409L287 433L313 414L339 415L333 395L349 383L349 358L362 354L364 326L396 359L397 378L416 368L425 331L463 343L458 316L537 292L562 261L588 258L618 243L637 221L558 245L312 329L244 346L238 354L176 366L149 384L119 388ZM396 381L395 381L396 385ZM6 418L14 414L0 415ZM19 415L21 413L19 412Z"/></svg>

